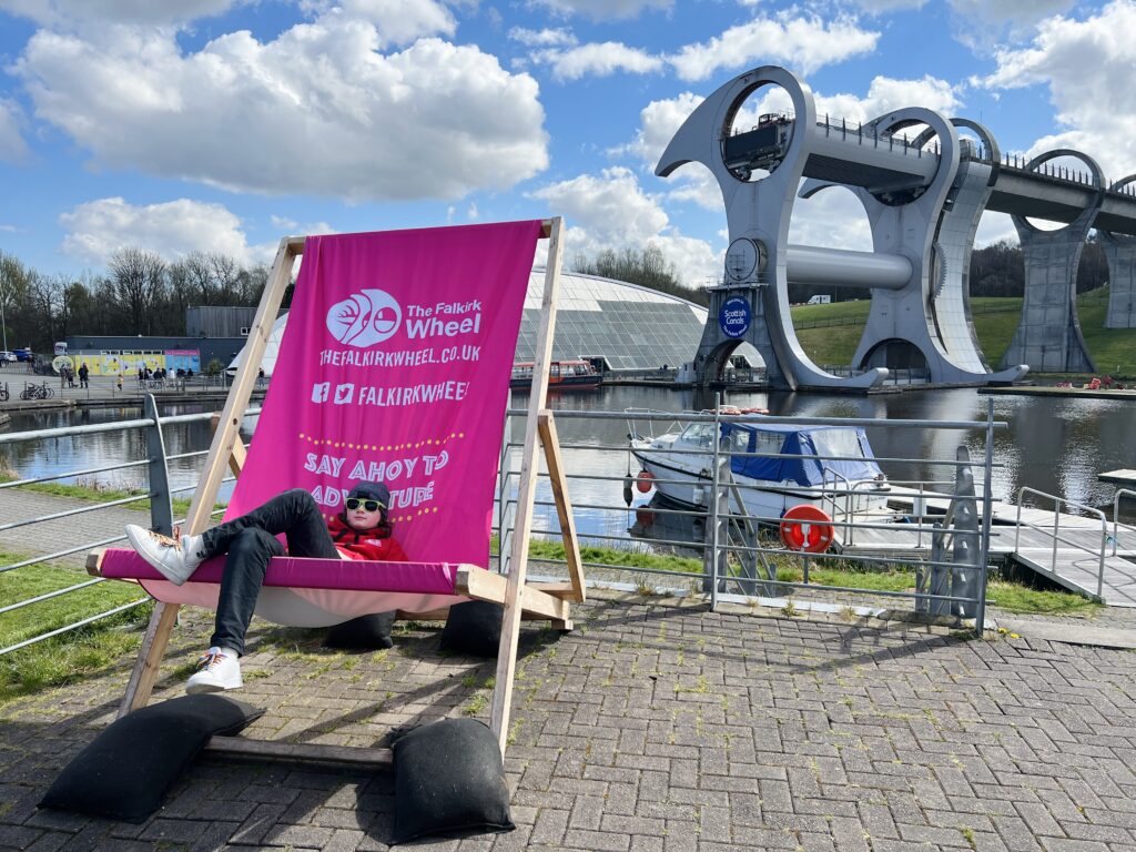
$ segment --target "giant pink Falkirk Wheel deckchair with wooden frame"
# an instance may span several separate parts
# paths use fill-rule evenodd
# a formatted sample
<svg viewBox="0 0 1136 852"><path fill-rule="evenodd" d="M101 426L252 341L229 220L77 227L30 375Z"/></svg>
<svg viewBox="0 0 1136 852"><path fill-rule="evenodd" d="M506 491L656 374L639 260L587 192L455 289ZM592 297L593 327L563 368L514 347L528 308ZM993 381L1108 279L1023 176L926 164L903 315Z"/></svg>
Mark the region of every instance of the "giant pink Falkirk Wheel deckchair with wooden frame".
<svg viewBox="0 0 1136 852"><path fill-rule="evenodd" d="M414 562L281 557L272 561L257 615L293 626L339 624L399 609L438 615L478 599L504 605L491 727L506 747L520 619L569 629L584 600L579 550L556 426L544 409L559 287L562 220L289 237L281 242L229 391L185 529L209 525L226 467L237 485L234 517L289 487L342 510L354 482L392 491L395 537ZM519 493L507 575L487 570L490 516L509 374L536 241L551 237L544 278ZM304 256L276 370L252 444L239 427L294 260ZM560 517L569 583L526 583L540 438ZM502 531L502 541L506 540ZM174 586L133 550L95 552L92 574L132 579L157 600L119 716L144 705L177 610L216 605L223 559ZM217 737L215 751L390 761L387 750L346 750ZM360 753L361 751L361 753Z"/></svg>

